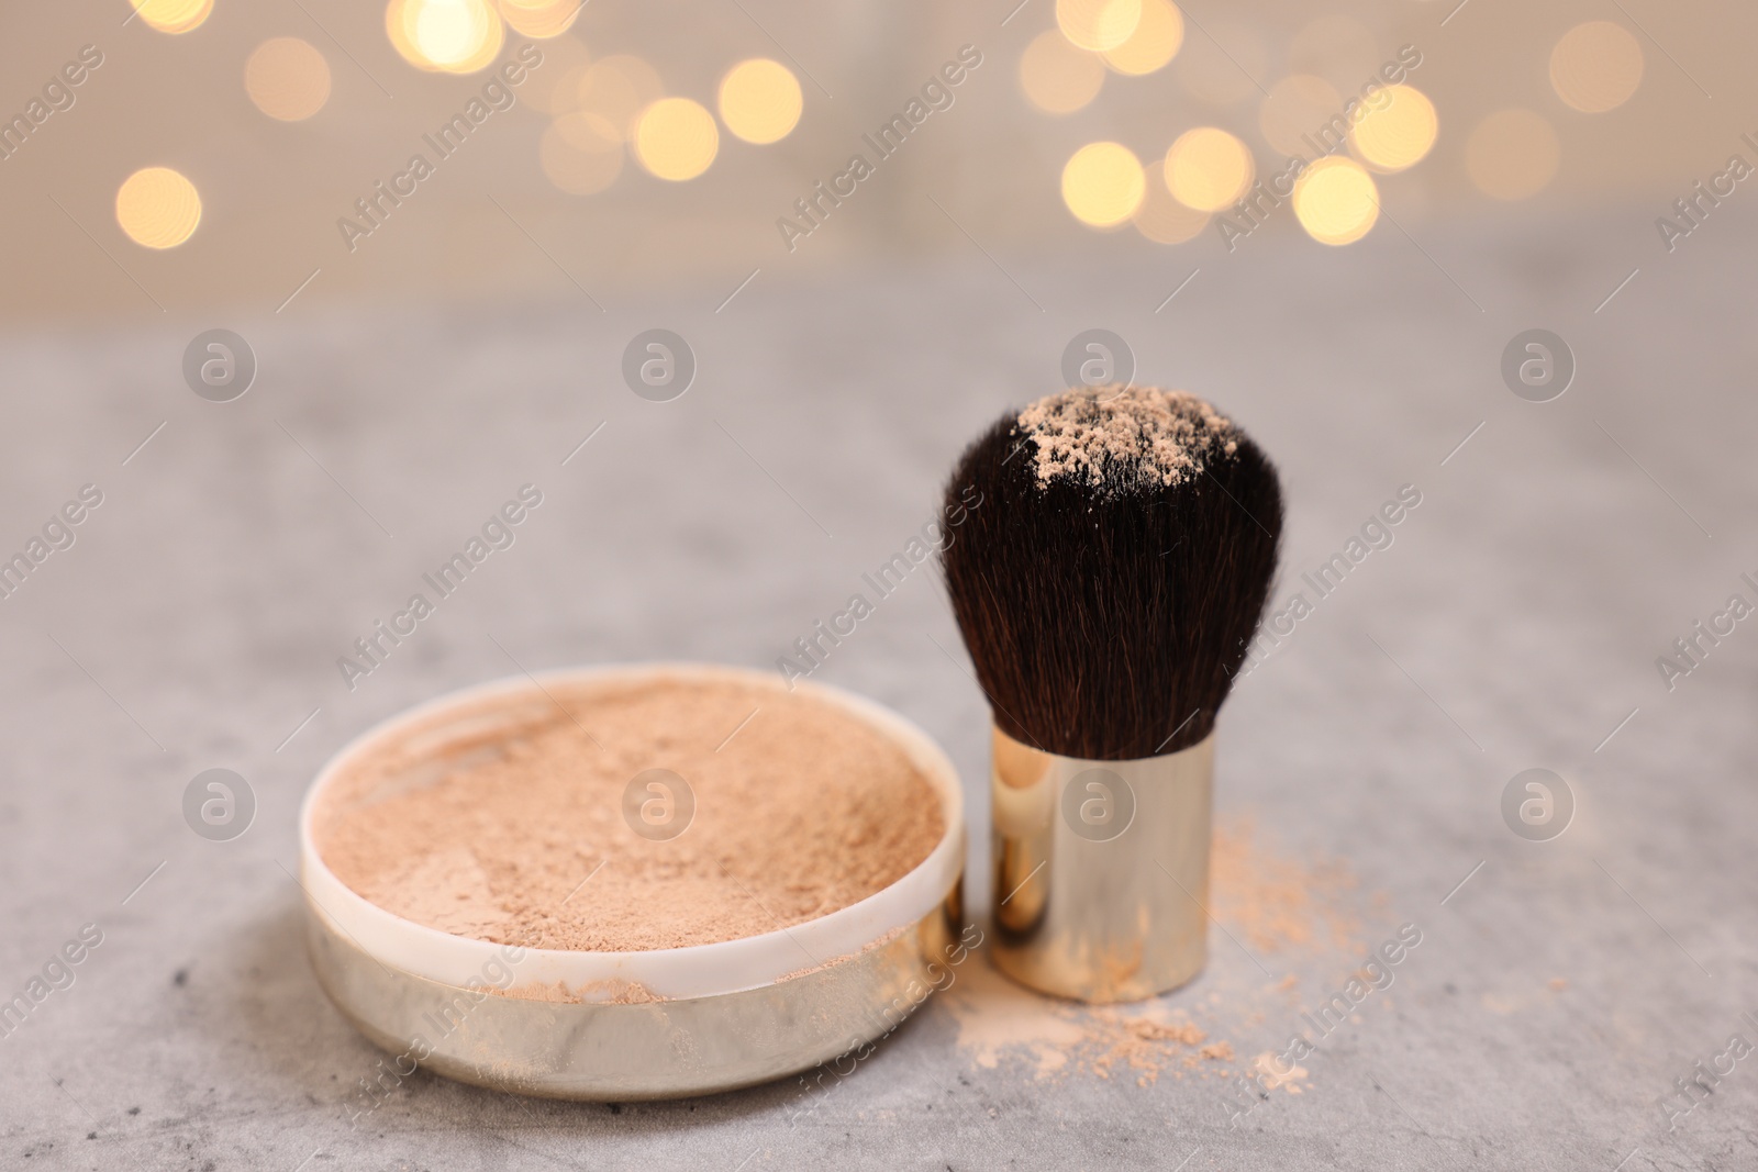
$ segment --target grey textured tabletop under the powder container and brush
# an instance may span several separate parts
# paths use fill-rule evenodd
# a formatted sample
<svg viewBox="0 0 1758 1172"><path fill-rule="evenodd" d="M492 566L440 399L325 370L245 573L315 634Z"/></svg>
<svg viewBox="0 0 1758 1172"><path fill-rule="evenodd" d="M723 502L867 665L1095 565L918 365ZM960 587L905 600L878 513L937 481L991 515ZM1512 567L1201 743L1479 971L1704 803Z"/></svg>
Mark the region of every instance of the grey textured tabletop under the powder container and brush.
<svg viewBox="0 0 1758 1172"><path fill-rule="evenodd" d="M1677 257L1640 209L1431 232L1427 255L1398 232L1348 255L1241 248L1160 311L1194 267L1178 253L1009 262L1044 311L960 253L839 286L777 271L719 315L731 281L665 304L607 297L607 315L264 313L227 322L262 373L223 406L178 374L216 322L7 337L0 545L23 546L83 483L104 503L0 606L0 984L23 989L84 922L104 940L0 1037L0 1165L1758 1167L1758 1060L1672 1132L1656 1107L1732 1033L1754 1037L1739 1014L1758 1010L1758 627L1739 624L1672 691L1654 666L1758 575L1751 228L1730 209ZM670 404L617 376L650 325L700 357ZM1042 1077L1030 1054L972 1049L932 998L817 1102L784 1081L617 1111L417 1075L352 1128L376 1053L311 975L288 875L315 768L510 659L774 664L1090 325L1123 334L1143 378L1225 404L1280 460L1278 599L1401 485L1422 494L1222 720L1222 815L1253 817L1283 861L1345 861L1359 940L1424 933L1396 984L1304 1060L1303 1093L1238 1121L1224 1098L1352 963L1245 945L1234 926L1169 1003L1238 1061L1188 1077ZM1498 374L1535 325L1579 358L1547 404ZM336 657L526 481L545 501L517 545L350 692ZM907 582L823 675L948 745L981 875L984 706L937 582ZM258 799L229 843L179 810L211 766ZM1500 814L1529 766L1573 784L1554 842ZM1266 993L1285 973L1292 991ZM972 973L963 995L984 989Z"/></svg>

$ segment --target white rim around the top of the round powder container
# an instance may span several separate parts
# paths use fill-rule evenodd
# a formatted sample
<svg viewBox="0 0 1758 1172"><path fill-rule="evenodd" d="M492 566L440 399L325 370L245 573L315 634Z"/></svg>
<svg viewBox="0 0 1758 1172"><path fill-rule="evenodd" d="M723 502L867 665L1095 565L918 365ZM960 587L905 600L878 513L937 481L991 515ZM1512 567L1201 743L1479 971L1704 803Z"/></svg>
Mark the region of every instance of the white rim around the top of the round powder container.
<svg viewBox="0 0 1758 1172"><path fill-rule="evenodd" d="M724 682L788 692L786 684L768 671L689 662L571 668L538 673L534 680L557 687L610 687L657 680ZM459 715L468 712L480 720L485 701L529 699L533 687L533 676L508 676L448 692L367 729L323 766L299 815L301 882L315 919L371 959L443 986L471 988L475 982L476 988L498 984L519 991L531 986L554 988L561 982L585 1003L612 1003L626 998L629 986L663 1000L705 998L772 986L782 977L812 968L807 956L823 958L825 966L833 966L918 926L948 901L949 893L956 896L965 863L965 817L963 791L953 763L926 733L890 708L810 680L795 682L793 691L840 708L902 749L939 796L944 821L941 842L914 870L883 891L828 915L758 937L682 949L580 952L526 947L517 949L517 961L510 963L510 945L455 937L396 915L357 894L329 870L316 847L313 821L325 789L339 775L415 726L431 726L448 712ZM508 968L513 972L512 984L496 980Z"/></svg>

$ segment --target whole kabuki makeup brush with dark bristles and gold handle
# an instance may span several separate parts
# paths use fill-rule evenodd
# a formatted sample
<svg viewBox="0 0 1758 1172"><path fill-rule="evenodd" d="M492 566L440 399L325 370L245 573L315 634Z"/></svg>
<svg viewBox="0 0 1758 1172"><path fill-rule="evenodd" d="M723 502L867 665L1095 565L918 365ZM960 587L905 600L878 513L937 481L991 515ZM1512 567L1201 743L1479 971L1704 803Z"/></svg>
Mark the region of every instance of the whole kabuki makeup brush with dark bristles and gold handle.
<svg viewBox="0 0 1758 1172"><path fill-rule="evenodd" d="M958 462L941 553L993 713L995 963L1085 1002L1206 959L1215 715L1269 597L1276 469L1176 390L1069 390Z"/></svg>

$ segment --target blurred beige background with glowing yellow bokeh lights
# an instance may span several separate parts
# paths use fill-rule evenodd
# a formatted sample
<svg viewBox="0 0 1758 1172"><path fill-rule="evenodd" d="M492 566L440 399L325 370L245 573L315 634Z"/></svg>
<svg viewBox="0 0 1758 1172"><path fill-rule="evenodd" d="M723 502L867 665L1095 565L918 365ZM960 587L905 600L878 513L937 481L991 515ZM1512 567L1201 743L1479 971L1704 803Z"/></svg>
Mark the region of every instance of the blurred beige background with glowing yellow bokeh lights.
<svg viewBox="0 0 1758 1172"><path fill-rule="evenodd" d="M135 4L7 18L0 116L28 130L12 123L0 160L0 297L16 320L411 295L614 307L965 237L1002 262L1213 255L1227 234L1204 206L1227 214L1245 181L1285 172L1301 127L1329 123L1401 53L1420 58L1410 90L1352 123L1304 207L1268 216L1264 248L1603 209L1637 235L1730 155L1758 162L1740 141L1758 130L1742 121L1758 109L1744 60L1758 11L1739 4ZM86 46L102 65L46 95ZM541 65L508 88L517 104L440 160L422 135L531 60L524 46ZM962 46L981 65L879 160L861 135ZM723 98L751 60L770 65ZM1174 142L1188 149L1167 169ZM434 174L350 251L338 221L364 223L355 200L415 153ZM789 251L777 220L853 153L875 172ZM125 190L142 169L181 181L151 170Z"/></svg>

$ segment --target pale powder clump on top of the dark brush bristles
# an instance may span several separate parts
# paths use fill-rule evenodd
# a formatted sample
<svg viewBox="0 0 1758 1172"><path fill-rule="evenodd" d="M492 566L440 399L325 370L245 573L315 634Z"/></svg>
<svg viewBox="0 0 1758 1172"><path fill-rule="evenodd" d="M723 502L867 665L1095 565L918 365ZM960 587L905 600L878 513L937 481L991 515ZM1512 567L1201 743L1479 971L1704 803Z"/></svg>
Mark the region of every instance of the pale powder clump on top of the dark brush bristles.
<svg viewBox="0 0 1758 1172"><path fill-rule="evenodd" d="M1169 487L1239 446L1238 429L1208 402L1151 387L1048 395L1020 413L1018 430L1034 441L1039 485L1060 476L1093 488Z"/></svg>

